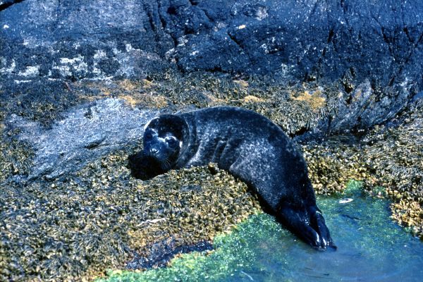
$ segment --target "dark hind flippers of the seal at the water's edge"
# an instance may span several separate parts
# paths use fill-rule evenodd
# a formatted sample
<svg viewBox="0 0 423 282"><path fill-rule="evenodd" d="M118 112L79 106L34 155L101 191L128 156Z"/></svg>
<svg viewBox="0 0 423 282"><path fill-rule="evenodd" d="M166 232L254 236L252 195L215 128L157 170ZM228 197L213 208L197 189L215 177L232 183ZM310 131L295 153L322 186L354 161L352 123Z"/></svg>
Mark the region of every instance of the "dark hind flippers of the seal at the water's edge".
<svg viewBox="0 0 423 282"><path fill-rule="evenodd" d="M278 218L290 231L293 231L312 247L318 250L326 250L326 247L336 249L329 229L326 227L324 218L317 207L296 209L284 205L278 212Z"/></svg>

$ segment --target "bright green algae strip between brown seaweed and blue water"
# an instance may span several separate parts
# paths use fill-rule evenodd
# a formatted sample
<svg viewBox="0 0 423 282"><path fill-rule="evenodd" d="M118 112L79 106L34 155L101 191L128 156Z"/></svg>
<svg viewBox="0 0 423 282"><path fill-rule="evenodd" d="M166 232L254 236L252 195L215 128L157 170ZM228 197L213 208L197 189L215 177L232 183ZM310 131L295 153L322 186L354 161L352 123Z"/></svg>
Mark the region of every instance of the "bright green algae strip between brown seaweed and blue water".
<svg viewBox="0 0 423 282"><path fill-rule="evenodd" d="M262 233L256 226L264 228ZM173 259L171 266L137 273L133 271L109 271L108 279L99 281L219 281L235 274L239 269L254 264L254 245L269 238L269 233L278 238L286 233L281 226L266 214L255 214L240 223L231 235L214 238L216 250L192 252Z"/></svg>

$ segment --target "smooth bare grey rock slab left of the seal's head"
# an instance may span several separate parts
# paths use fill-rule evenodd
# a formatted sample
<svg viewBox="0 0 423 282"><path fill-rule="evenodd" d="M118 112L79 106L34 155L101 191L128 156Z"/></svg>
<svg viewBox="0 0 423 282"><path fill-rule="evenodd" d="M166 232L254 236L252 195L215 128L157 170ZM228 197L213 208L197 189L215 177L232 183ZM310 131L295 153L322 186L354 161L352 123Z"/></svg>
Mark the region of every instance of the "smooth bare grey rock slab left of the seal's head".
<svg viewBox="0 0 423 282"><path fill-rule="evenodd" d="M78 171L87 161L139 141L143 126L156 114L131 109L121 99L103 99L64 113L51 128L16 115L8 125L36 152L28 178L48 179Z"/></svg>

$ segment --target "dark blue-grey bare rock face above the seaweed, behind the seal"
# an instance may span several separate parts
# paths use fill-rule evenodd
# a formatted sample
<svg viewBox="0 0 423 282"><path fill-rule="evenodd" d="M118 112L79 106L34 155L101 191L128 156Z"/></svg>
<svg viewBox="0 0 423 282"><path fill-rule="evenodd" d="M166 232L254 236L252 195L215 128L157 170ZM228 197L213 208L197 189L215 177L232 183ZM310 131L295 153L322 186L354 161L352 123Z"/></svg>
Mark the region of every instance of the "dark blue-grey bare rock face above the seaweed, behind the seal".
<svg viewBox="0 0 423 282"><path fill-rule="evenodd" d="M419 1L393 0L6 1L2 89L168 70L338 82L340 111L317 129L365 129L422 89L422 15Z"/></svg>

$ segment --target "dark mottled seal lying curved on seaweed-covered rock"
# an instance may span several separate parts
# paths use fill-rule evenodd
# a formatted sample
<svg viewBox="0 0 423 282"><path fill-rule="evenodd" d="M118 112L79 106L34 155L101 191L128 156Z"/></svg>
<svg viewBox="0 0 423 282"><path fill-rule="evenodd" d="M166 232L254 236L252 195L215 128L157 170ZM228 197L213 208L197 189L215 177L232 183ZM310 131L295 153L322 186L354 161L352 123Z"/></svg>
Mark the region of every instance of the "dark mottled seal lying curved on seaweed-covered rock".
<svg viewBox="0 0 423 282"><path fill-rule="evenodd" d="M268 118L231 106L164 114L147 123L143 143L143 151L129 157L135 177L216 163L255 190L270 213L306 243L336 249L302 153Z"/></svg>

